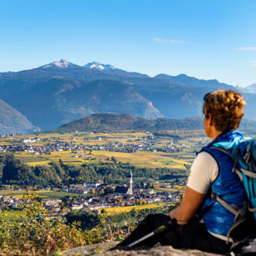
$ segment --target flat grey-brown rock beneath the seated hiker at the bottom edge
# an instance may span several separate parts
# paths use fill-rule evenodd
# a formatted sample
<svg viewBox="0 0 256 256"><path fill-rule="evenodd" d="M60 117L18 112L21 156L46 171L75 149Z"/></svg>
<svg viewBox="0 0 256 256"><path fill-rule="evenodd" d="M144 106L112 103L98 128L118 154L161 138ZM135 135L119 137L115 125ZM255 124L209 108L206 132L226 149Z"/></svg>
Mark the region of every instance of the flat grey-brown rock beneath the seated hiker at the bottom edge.
<svg viewBox="0 0 256 256"><path fill-rule="evenodd" d="M174 249L172 246L159 246L151 249L137 248L135 250L117 249L108 251L108 249L116 246L116 241L105 242L100 244L92 244L88 246L81 246L74 249L67 249L62 252L63 255L98 255L98 256L217 256L213 253L201 252L195 249ZM221 256L221 255L219 255Z"/></svg>

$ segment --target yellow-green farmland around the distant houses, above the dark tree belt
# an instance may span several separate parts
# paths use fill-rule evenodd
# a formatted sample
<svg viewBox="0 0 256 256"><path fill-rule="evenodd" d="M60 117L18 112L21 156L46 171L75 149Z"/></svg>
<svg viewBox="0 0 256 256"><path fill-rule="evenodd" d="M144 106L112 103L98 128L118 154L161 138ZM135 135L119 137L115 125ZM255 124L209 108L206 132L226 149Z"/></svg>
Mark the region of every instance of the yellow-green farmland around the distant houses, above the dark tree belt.
<svg viewBox="0 0 256 256"><path fill-rule="evenodd" d="M12 145L17 141L31 138L38 138L34 143L25 143L31 146L45 146L49 143L72 143L84 147L76 151L52 151L50 154L34 154L28 151L15 152L15 157L22 159L28 165L48 165L51 161L59 161L61 159L64 163L70 165L82 165L85 163L99 163L110 162L111 157L115 157L118 162L135 165L136 167L167 167L185 170L185 165L191 165L192 160L195 158L195 153L192 148L200 148L201 145L206 143L205 138L196 137L189 140L176 140L171 142L168 137L158 137L151 140L151 147L167 148L175 147L178 152L160 152L160 151L135 151L135 152L120 152L120 151L104 151L99 149L89 149L93 146L100 147L106 145L122 145L122 147L129 147L131 144L134 147L140 146L145 143L144 138L152 136L145 132L126 132L126 133L95 133L83 132L78 134L43 134L43 135L23 135L15 136L13 138L0 138L1 145ZM116 146L114 146L115 148Z"/></svg>

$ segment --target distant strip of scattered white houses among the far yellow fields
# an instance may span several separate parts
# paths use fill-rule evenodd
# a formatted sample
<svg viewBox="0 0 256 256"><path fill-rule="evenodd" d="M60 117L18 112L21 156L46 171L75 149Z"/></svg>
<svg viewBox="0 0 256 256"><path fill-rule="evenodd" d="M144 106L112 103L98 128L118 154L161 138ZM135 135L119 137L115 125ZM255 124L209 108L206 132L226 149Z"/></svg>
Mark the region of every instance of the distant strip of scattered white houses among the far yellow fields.
<svg viewBox="0 0 256 256"><path fill-rule="evenodd" d="M0 146L0 151L4 152L13 152L18 154L20 151L33 153L35 155L44 155L50 154L51 152L56 151L77 151L77 150L97 150L97 151L112 151L112 152L125 152L125 153L134 153L136 151L154 151L154 152L179 152L183 148L185 148L185 144L182 144L181 147L176 146L173 143L173 140L170 139L168 143L162 143L161 146L156 146L158 139L154 136L146 136L142 138L138 138L138 136L134 136L136 138L135 142L132 143L132 140L127 140L127 143L120 143L118 141L113 143L104 143L105 139L97 136L94 138L96 140L96 145L86 145L86 142L89 143L91 141L90 138L84 137L84 143L77 144L75 143L75 136L72 136L71 142L65 142L61 140L59 137L52 138L43 138L42 143L44 145L33 145L41 140L37 135L35 138L26 138L23 140L12 140L11 145L2 145ZM79 136L79 135L77 135ZM83 157L83 155L80 157Z"/></svg>

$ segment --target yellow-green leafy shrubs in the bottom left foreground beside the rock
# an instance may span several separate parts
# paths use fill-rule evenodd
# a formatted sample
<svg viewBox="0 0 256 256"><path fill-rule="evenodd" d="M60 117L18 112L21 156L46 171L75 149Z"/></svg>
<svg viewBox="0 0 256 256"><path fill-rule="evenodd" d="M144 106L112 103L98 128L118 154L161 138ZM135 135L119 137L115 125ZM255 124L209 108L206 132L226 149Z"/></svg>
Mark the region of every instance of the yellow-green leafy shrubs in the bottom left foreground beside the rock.
<svg viewBox="0 0 256 256"><path fill-rule="evenodd" d="M4 222L0 211L0 251L6 255L50 255L64 250L104 240L102 228L81 230L79 223L67 225L61 216L50 216L35 192L26 192L20 207L26 219Z"/></svg>

